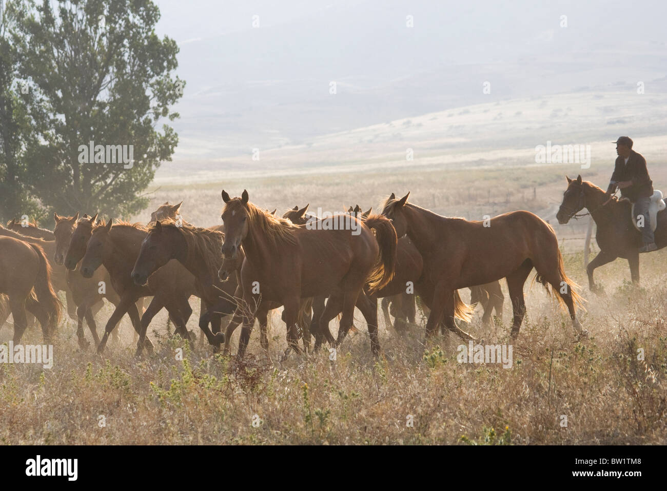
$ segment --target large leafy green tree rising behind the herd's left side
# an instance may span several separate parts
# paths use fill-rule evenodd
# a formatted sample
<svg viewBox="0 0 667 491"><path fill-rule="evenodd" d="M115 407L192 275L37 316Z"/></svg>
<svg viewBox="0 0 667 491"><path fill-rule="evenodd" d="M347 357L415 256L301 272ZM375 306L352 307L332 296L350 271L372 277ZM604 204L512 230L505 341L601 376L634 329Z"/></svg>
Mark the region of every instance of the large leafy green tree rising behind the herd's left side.
<svg viewBox="0 0 667 491"><path fill-rule="evenodd" d="M178 117L169 107L185 86L171 77L175 41L155 34L157 6L57 0L54 10L51 0L15 1L13 44L30 89L21 97L38 135L25 142L27 187L61 215L137 213L148 201L139 193L178 142L169 125L155 126ZM119 162L121 147L133 162Z"/></svg>

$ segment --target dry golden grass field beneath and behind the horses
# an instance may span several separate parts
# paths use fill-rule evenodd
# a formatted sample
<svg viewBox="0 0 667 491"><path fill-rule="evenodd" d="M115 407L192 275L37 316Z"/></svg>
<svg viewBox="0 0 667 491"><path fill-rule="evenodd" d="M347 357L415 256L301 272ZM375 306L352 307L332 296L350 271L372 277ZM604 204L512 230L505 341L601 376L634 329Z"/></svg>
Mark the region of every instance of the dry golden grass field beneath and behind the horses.
<svg viewBox="0 0 667 491"><path fill-rule="evenodd" d="M339 211L356 203L366 209L392 191L412 191L411 201L418 205L481 219L513 209L537 213L554 203L557 207L565 173L582 173L584 179L605 185L610 172L608 167L594 166L584 174L574 166L553 166L257 177L165 186L155 192L151 207L183 199L183 217L207 226L219 223L222 188L232 196L246 188L251 201L279 211L305 203L315 210ZM660 167L652 175L658 188L667 182ZM520 337L509 340L512 311L503 280L504 322L483 328L478 308L467 328L486 343L510 342L511 368L458 363L457 346L464 343L453 334L424 345L426 319L420 315L420 325L406 336L398 336L380 320L383 355L377 360L357 311L359 332L345 340L336 360L322 350L308 357L292 354L284 362L279 361L286 346L279 313L270 321L269 357L261 352L255 328L242 362L211 356L208 348L170 337L163 313L149 328L155 354L138 359L127 320L120 344L109 342L102 357L79 350L75 325L63 320L54 341L53 368L0 364L0 441L665 444L667 251L642 254L640 287L629 284L624 260L598 269L596 280L604 286L600 295L588 291L581 248L564 252L566 272L582 285L587 300L582 322L590 336L574 336L568 316L542 287L529 288L531 275L526 283L528 314ZM470 293L462 290L462 296L469 299ZM198 303L191 299L195 312L188 327L195 332ZM106 306L98 314L99 330L109 313ZM337 328L334 320L331 330ZM234 347L237 338L238 330ZM9 339L11 330L0 330L0 342ZM41 333L29 330L23 342L41 343ZM178 348L183 349L183 360L177 359ZM642 352L643 360L638 359Z"/></svg>

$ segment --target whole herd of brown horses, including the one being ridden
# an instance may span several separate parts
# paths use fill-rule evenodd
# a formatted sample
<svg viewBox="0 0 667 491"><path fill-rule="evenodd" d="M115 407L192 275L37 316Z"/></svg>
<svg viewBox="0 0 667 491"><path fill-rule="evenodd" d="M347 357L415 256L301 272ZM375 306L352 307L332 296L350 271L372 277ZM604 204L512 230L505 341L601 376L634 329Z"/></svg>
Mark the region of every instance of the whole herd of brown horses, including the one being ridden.
<svg viewBox="0 0 667 491"><path fill-rule="evenodd" d="M604 230L608 217L602 216L629 217L628 206L615 198L603 205L600 193L604 195L581 177L568 178L558 215L566 222L588 207L598 223L602 252L588 266L592 289L592 270L616 256L628 258L632 278L638 280L638 256L628 250L639 233L618 225L608 233ZM507 280L512 302L511 336L518 336L526 312L524 283L535 269L536 280L568 311L576 334L586 335L576 312L582 308L582 298L566 275L556 234L528 211L467 221L442 217L410 203L408 195L397 198L392 193L379 214L350 207L346 220L354 227L348 228L331 227L331 217L307 214L308 205L277 217L275 211L253 205L247 191L241 197L232 198L225 191L221 195L223 225L207 228L182 220L182 202L159 207L149 225L104 221L98 215L79 217L79 213L72 217L55 213L54 231L17 221L0 225L0 326L11 313L13 340L19 343L28 325L27 311L41 324L45 342L50 342L63 310L57 292L63 291L67 314L77 321L82 349L89 346L84 321L101 353L127 314L136 332L138 355L144 348L153 350L147 328L163 308L175 332L191 338L186 324L192 314L189 298L195 295L201 300L199 328L214 352L224 345L228 353L231 336L241 326L238 354L243 356L255 320L261 347L268 350L269 310L280 307L287 352L317 350L325 342L338 346L354 328L358 308L377 355L379 299L388 325L397 332L414 324L418 296L428 315L427 338L440 328L474 340L454 319L470 321L474 304L480 303L483 322L490 322L494 310L502 320L501 278ZM658 215L660 247L667 243L665 217L662 212ZM625 219L628 225L626 218L623 215L618 222ZM462 301L460 288L471 289L472 305ZM95 314L104 298L114 310L100 338ZM223 319L229 316L223 332ZM340 326L334 338L329 322L337 316Z"/></svg>

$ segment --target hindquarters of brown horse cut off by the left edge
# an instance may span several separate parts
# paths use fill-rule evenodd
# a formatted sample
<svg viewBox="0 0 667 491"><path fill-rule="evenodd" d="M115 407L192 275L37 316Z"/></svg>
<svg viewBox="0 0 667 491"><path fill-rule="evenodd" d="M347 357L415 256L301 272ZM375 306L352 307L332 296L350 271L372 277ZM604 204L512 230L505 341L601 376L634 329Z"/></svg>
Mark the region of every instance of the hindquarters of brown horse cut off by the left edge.
<svg viewBox="0 0 667 491"><path fill-rule="evenodd" d="M51 342L62 305L51 287L51 267L39 245L0 237L0 294L9 297L15 343L21 342L27 326L26 308L39 320L44 342Z"/></svg>

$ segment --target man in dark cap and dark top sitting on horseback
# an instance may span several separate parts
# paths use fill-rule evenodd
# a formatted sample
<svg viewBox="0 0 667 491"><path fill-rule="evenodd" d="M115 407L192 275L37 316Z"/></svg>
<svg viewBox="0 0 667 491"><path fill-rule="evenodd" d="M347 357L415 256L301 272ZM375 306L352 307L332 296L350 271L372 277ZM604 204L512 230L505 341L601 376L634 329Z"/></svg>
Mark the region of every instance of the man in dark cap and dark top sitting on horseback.
<svg viewBox="0 0 667 491"><path fill-rule="evenodd" d="M616 187L621 190L621 196L634 203L636 219L641 215L644 217L644 227L642 228L642 239L644 245L639 248L639 252L651 252L656 250L653 229L650 224L648 207L653 195L653 181L648 175L646 169L646 160L642 155L632 150L632 140L629 137L619 137L616 140L616 167L607 189L607 195L611 197L616 191Z"/></svg>

